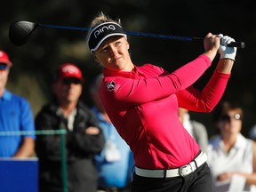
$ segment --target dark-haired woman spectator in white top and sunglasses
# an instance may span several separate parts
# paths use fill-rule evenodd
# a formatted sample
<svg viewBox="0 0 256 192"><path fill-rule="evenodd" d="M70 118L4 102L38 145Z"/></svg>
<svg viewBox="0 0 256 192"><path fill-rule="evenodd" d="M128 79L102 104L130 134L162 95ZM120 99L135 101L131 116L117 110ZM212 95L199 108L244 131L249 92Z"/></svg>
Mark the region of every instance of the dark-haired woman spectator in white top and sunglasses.
<svg viewBox="0 0 256 192"><path fill-rule="evenodd" d="M220 102L213 120L220 134L209 141L208 164L213 191L253 191L256 185L256 145L241 134L243 109L228 101ZM241 188L239 190L238 188Z"/></svg>

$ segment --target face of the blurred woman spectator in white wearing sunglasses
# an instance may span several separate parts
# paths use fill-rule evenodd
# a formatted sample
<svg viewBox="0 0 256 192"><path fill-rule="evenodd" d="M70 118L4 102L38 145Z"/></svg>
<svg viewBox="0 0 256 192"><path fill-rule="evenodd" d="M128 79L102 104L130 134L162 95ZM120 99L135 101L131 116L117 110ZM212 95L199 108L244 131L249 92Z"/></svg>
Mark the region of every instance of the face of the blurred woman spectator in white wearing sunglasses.
<svg viewBox="0 0 256 192"><path fill-rule="evenodd" d="M229 110L220 117L217 126L221 134L238 134L242 129L242 116L236 110Z"/></svg>

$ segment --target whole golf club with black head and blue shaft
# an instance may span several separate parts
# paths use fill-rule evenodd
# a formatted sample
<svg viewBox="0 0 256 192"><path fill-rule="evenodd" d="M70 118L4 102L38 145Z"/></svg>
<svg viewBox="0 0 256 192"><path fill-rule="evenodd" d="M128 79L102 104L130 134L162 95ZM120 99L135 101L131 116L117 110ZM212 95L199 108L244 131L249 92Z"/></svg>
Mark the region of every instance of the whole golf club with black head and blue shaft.
<svg viewBox="0 0 256 192"><path fill-rule="evenodd" d="M56 25L44 25L39 23L34 23L30 21L16 21L10 25L9 28L9 38L12 44L17 46L26 44L28 42L29 36L33 34L37 27L42 28L64 28L64 29L73 29L73 30L82 30L89 31L89 28L77 28L77 27L68 27L68 26L56 26ZM189 36L169 36L169 35L161 35L161 34L152 34L152 33L141 33L141 32L132 32L126 31L127 35L132 36L149 36L156 38L165 38L179 41L187 41L187 42L203 42L204 38L202 37L189 37ZM244 49L244 42L232 42L228 44L230 47L237 47Z"/></svg>

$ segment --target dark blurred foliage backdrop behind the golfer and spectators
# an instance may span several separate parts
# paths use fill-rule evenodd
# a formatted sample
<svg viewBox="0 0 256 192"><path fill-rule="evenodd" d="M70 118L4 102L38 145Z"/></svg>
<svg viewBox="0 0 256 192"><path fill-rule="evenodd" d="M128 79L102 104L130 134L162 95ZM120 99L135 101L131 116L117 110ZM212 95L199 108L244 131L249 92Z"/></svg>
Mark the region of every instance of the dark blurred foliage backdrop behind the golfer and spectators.
<svg viewBox="0 0 256 192"><path fill-rule="evenodd" d="M127 31L200 37L212 32L244 41L245 49L237 51L236 66L222 99L237 101L244 108L244 135L247 136L249 129L256 124L256 6L252 0L12 0L5 1L3 6L6 12L0 13L0 48L8 52L14 65L7 88L26 97L35 116L42 105L51 99L52 71L60 64L73 62L83 69L86 82L82 99L88 106L92 105L88 86L101 68L88 52L84 31L37 28L27 44L15 46L8 37L10 24L28 20L88 28L92 18L102 11L113 19L120 18ZM169 71L204 52L201 43L142 36L129 36L129 40L135 64L154 63ZM198 89L211 76L216 61L196 82ZM215 133L211 114L192 113L191 116L208 127L210 136Z"/></svg>

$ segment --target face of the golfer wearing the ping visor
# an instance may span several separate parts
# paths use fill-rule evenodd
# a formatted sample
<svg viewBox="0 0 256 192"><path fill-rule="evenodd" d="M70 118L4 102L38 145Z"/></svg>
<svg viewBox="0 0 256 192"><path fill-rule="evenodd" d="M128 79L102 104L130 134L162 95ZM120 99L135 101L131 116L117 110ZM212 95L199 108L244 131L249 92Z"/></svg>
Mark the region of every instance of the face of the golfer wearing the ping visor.
<svg viewBox="0 0 256 192"><path fill-rule="evenodd" d="M124 36L111 36L94 52L94 59L109 70L131 71L133 64L129 47L130 45Z"/></svg>

